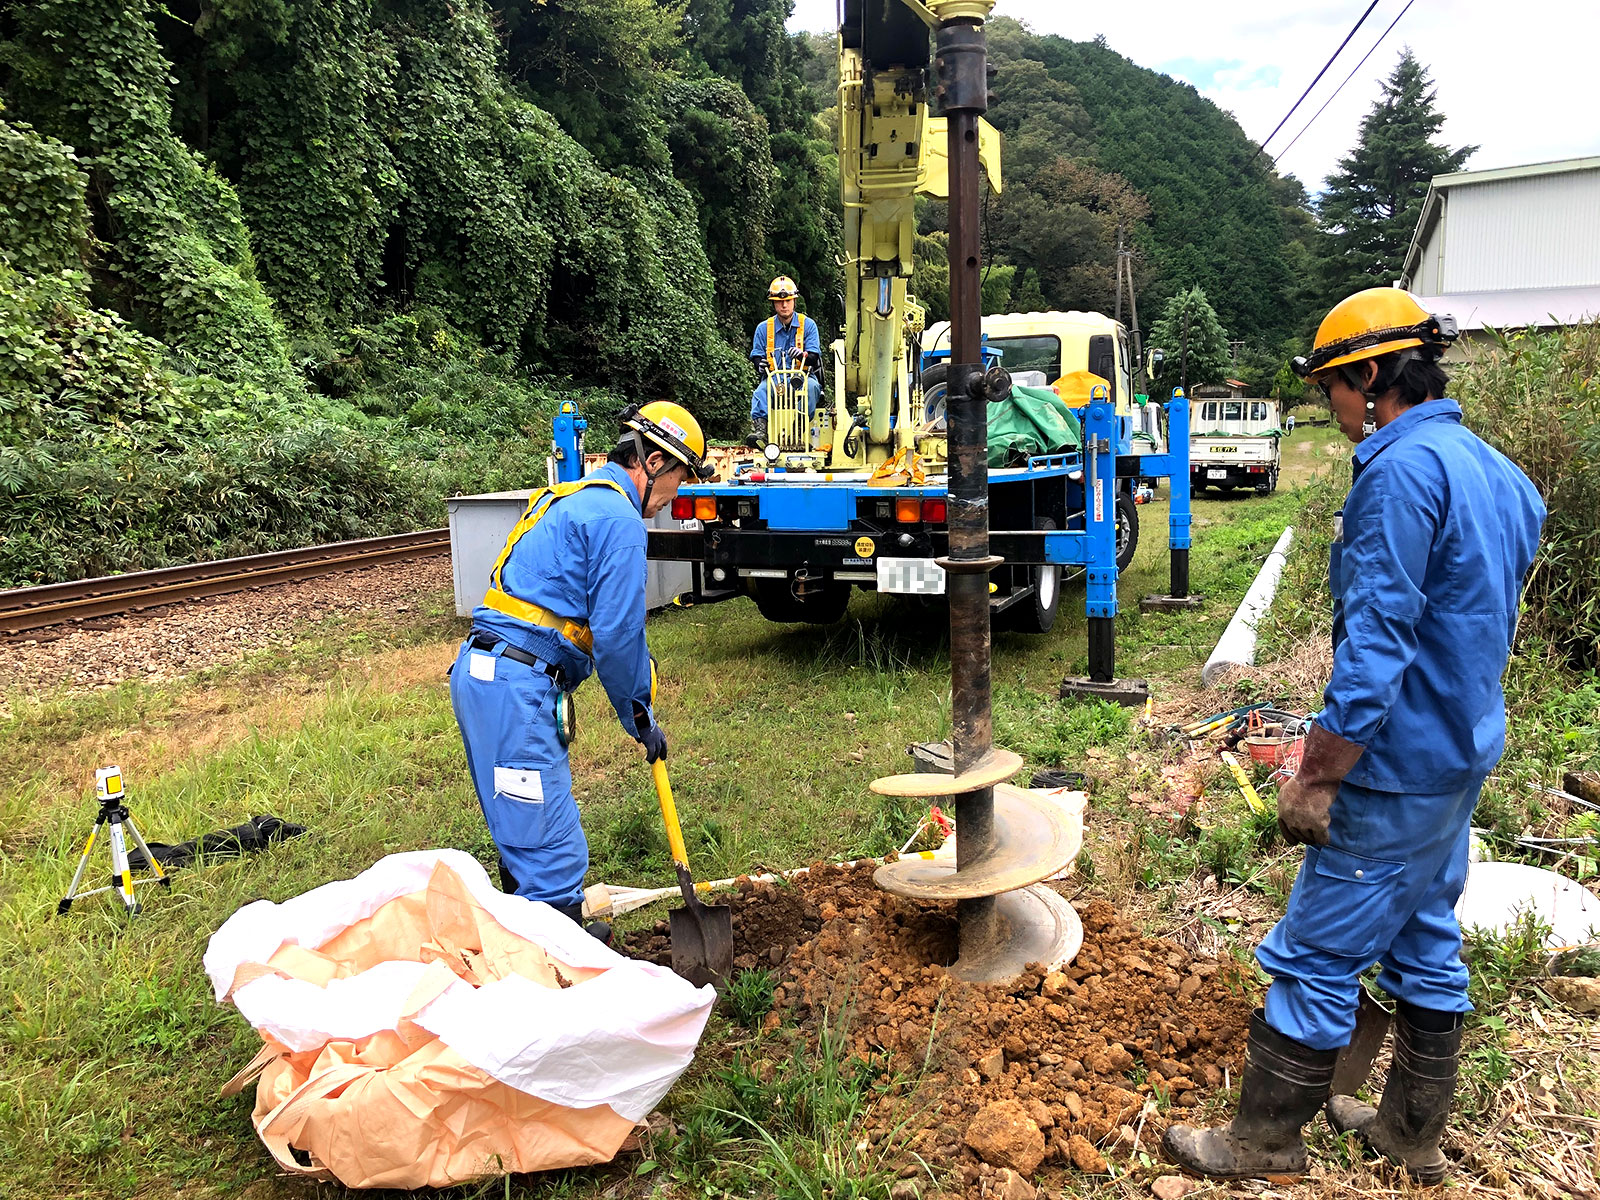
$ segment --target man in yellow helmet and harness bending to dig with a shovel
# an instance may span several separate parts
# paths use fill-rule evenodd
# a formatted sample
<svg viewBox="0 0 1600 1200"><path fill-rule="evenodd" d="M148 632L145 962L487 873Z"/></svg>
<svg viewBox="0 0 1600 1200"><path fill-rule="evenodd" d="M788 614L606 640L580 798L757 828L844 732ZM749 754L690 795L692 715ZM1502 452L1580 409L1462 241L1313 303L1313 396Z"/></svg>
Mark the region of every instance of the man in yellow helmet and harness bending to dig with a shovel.
<svg viewBox="0 0 1600 1200"><path fill-rule="evenodd" d="M666 400L627 410L600 470L533 493L450 670L450 702L499 848L501 883L574 922L589 843L566 762L573 691L598 674L646 760L667 757L645 643L645 520L682 483L709 477L704 456L706 435L688 410ZM589 930L610 941L608 926Z"/></svg>

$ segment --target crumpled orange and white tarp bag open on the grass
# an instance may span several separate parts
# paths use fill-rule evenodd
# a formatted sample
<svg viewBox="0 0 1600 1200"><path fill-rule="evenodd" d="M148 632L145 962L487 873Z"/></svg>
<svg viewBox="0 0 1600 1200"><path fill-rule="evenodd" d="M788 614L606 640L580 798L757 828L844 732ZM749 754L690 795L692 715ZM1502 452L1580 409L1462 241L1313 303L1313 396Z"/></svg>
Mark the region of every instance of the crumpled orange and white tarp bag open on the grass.
<svg viewBox="0 0 1600 1200"><path fill-rule="evenodd" d="M347 1187L610 1160L715 1000L501 893L458 850L246 904L205 970L266 1042L227 1085L259 1074L261 1141L285 1171Z"/></svg>

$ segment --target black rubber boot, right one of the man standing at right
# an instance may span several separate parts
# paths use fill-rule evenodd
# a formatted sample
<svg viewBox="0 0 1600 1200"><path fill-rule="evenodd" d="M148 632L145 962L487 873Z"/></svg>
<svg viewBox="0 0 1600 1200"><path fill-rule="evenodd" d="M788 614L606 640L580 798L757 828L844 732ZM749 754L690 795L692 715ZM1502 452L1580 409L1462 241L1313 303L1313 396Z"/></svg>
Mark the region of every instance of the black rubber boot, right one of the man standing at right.
<svg viewBox="0 0 1600 1200"><path fill-rule="evenodd" d="M1328 1123L1355 1133L1368 1149L1397 1163L1419 1184L1440 1184L1450 1160L1438 1149L1456 1096L1461 1013L1440 1013L1400 1002L1395 1011L1394 1064L1378 1107L1355 1096L1328 1101Z"/></svg>

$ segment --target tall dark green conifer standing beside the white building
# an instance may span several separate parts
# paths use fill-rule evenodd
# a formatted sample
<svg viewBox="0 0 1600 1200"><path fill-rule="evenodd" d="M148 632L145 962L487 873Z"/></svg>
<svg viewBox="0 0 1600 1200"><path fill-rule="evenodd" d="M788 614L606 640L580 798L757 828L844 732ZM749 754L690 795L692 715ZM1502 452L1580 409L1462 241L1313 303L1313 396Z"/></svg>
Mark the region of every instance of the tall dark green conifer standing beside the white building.
<svg viewBox="0 0 1600 1200"><path fill-rule="evenodd" d="M1435 141L1445 123L1434 107L1435 94L1427 69L1408 46L1362 122L1355 149L1328 176L1328 190L1317 203L1328 298L1394 282L1429 181L1461 170L1478 149L1451 150Z"/></svg>

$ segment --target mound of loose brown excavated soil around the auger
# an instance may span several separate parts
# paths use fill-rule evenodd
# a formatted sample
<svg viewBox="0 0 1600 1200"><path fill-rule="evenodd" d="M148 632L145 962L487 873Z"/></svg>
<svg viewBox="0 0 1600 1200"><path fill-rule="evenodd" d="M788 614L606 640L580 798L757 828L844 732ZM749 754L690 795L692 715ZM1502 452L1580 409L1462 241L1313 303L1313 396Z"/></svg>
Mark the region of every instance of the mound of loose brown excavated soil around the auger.
<svg viewBox="0 0 1600 1200"><path fill-rule="evenodd" d="M886 1053L918 1080L862 1136L950 1163L974 1189L1038 1162L1104 1170L1094 1147L1126 1150L1147 1099L1192 1107L1245 1062L1250 976L1138 934L1104 901L1080 909L1083 949L1064 971L1029 970L1013 987L952 979L954 906L880 891L870 869L746 882L730 902L736 965L778 974L779 1011L802 1027L826 1016L854 1053ZM667 962L666 923L629 949ZM1163 1125L1152 1112L1141 1147Z"/></svg>

